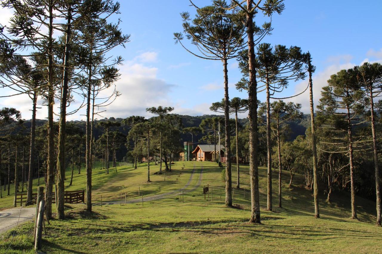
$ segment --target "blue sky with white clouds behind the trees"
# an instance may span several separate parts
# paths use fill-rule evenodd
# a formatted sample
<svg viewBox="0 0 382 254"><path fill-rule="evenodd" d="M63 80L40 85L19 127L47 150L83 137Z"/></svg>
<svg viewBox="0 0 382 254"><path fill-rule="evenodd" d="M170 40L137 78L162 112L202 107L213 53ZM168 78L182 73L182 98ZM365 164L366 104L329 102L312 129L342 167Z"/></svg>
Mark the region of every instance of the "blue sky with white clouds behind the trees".
<svg viewBox="0 0 382 254"><path fill-rule="evenodd" d="M194 2L199 6L210 3L207 0ZM122 95L103 116L149 116L145 108L159 105L173 106L174 112L180 114L210 114L210 104L223 98L222 63L196 58L179 44L175 45L173 40L173 32L182 31L180 12L194 13L189 1L123 0L120 3L121 29L125 34L131 34L131 42L125 48L112 51L125 59L125 65L121 66L121 79L117 82ZM313 64L317 67L313 77L317 103L320 88L326 85L330 74L364 61L382 60L381 10L382 2L377 0L285 1L283 13L272 17L272 35L262 42L296 45L311 52ZM0 14L0 23L3 24L10 14L5 10ZM259 14L256 20L262 23L265 19ZM245 92L235 90L234 84L240 78L236 61L230 61L231 98L247 97ZM282 97L303 90L306 84L306 81L291 84ZM264 98L260 93L259 99ZM303 104L303 111L308 112L308 95L298 96L293 101ZM30 118L27 104L27 100L0 99L0 106L21 108L26 119ZM45 110L41 109L38 117L45 115ZM246 114L241 117L246 117ZM83 116L79 113L69 118L83 119Z"/></svg>

